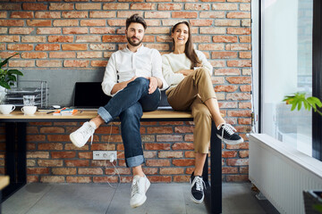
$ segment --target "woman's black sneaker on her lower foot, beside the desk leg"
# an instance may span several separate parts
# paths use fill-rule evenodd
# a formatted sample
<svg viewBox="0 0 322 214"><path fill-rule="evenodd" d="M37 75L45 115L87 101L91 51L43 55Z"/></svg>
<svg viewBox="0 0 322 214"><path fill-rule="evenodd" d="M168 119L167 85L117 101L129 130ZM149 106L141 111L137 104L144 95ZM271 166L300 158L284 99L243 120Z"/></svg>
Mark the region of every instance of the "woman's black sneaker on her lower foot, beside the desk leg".
<svg viewBox="0 0 322 214"><path fill-rule="evenodd" d="M205 197L204 189L206 188L205 182L202 177L193 176L191 174L191 200L192 202L202 203Z"/></svg>

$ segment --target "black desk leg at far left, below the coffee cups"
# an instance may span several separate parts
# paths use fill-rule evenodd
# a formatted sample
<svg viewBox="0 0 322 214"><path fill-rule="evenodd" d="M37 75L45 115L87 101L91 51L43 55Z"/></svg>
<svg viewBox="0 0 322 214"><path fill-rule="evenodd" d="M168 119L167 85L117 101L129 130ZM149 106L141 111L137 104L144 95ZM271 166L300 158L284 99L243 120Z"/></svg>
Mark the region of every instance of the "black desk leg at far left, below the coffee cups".
<svg viewBox="0 0 322 214"><path fill-rule="evenodd" d="M26 148L26 123L6 123L4 165L10 185L3 190L3 201L27 183Z"/></svg>

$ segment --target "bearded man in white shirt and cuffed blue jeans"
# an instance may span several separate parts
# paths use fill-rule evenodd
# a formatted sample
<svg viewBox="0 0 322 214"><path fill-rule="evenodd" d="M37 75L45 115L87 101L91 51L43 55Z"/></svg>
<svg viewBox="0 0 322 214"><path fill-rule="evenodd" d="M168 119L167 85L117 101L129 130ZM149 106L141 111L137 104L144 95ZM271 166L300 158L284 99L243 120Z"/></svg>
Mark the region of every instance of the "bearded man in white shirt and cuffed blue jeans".
<svg viewBox="0 0 322 214"><path fill-rule="evenodd" d="M142 45L147 24L138 14L126 20L127 47L112 54L106 65L102 88L112 99L97 111L98 115L70 135L72 144L86 144L95 129L115 117L121 120L121 132L127 167L132 169L132 208L142 205L150 185L142 171L143 157L140 118L143 111L155 111L160 102L160 89L167 84L162 76L162 59L156 49Z"/></svg>

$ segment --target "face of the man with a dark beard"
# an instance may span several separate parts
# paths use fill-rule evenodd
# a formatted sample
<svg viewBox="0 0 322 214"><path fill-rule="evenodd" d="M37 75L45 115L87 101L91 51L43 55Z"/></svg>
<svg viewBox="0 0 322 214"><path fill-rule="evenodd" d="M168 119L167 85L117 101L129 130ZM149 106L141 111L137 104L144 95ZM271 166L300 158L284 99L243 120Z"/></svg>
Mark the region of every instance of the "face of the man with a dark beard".
<svg viewBox="0 0 322 214"><path fill-rule="evenodd" d="M142 43L144 37L144 27L140 23L132 22L125 31L125 35L130 45L138 46Z"/></svg>

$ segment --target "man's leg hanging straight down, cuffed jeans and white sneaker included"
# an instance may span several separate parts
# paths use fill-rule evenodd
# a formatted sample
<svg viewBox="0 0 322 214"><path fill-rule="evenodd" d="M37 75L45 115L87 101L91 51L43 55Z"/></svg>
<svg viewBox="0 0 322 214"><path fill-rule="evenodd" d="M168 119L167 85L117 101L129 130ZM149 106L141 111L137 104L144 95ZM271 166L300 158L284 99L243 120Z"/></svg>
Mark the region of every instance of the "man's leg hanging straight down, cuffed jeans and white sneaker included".
<svg viewBox="0 0 322 214"><path fill-rule="evenodd" d="M148 177L144 175L141 167L141 164L144 163L140 136L140 118L142 114L142 107L138 102L120 114L125 163L133 171L130 200L132 208L139 207L146 202L146 192L150 185Z"/></svg>

